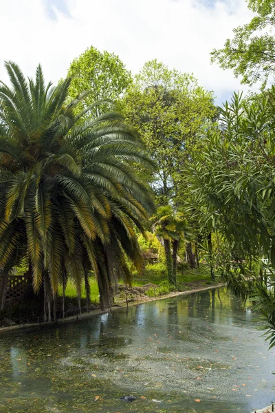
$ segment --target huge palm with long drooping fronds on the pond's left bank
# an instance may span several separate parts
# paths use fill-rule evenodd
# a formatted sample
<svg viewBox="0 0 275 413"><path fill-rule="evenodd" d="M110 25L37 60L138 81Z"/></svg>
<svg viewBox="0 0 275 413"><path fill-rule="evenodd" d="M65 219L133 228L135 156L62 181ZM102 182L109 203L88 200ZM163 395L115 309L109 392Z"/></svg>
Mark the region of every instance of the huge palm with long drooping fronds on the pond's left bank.
<svg viewBox="0 0 275 413"><path fill-rule="evenodd" d="M101 306L109 306L115 266L127 277L125 254L142 265L134 226L143 230L153 199L132 163L151 168L152 162L120 114L83 120L100 103L74 114L89 92L66 104L70 78L52 87L40 65L35 80L15 63L5 67L12 87L0 85L1 280L21 260L20 245L34 291L44 289L48 319L67 274L80 304L87 268L98 278Z"/></svg>

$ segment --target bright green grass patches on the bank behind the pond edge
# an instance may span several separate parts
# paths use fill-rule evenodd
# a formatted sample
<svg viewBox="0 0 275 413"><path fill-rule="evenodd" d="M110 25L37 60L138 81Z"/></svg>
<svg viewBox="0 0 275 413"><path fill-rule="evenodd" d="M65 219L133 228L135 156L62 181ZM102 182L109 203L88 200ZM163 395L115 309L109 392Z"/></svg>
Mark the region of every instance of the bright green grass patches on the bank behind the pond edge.
<svg viewBox="0 0 275 413"><path fill-rule="evenodd" d="M179 290L186 290L188 287L184 286L186 283L190 282L198 282L199 280L203 280L206 284L211 283L210 279L210 269L205 266L201 265L197 269L191 268L182 268L177 271L177 284L178 288L170 286L167 282L167 275L166 275L166 268L164 264L149 264L146 266L143 275L133 275L132 286L144 286L144 284L155 284L157 288L149 288L146 291L146 295L149 297L159 296L168 294L171 291ZM123 280L120 280L123 283ZM98 304L99 302L99 291L98 291L98 284L96 282L95 277L92 275L89 279L89 284L91 288L91 302L93 304ZM62 295L62 286L58 288L58 295ZM71 279L67 282L67 287L65 290L66 297L74 299L76 297L76 286ZM85 288L84 285L81 288L81 297L85 299Z"/></svg>

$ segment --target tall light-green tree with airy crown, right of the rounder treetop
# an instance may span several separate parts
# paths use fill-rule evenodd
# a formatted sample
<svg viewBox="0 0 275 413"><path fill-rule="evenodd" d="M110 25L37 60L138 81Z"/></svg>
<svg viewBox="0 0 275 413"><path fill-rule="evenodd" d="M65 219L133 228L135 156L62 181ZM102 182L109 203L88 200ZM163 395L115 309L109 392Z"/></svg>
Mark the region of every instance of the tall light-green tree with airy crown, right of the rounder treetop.
<svg viewBox="0 0 275 413"><path fill-rule="evenodd" d="M135 76L121 105L157 165L155 173L142 169L141 176L150 182L157 202L167 204L179 191L191 148L199 145L201 131L214 117L212 93L192 75L153 60Z"/></svg>

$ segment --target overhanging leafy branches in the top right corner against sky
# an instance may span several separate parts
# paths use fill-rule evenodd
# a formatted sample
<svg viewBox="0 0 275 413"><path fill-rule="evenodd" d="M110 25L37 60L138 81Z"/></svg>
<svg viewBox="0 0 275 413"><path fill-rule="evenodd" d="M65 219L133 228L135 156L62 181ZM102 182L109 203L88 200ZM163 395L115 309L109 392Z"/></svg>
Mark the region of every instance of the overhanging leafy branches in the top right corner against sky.
<svg viewBox="0 0 275 413"><path fill-rule="evenodd" d="M275 4L273 0L247 0L254 17L233 30L233 39L227 39L222 49L214 49L212 62L222 69L232 69L242 83L252 85L261 81L265 86L275 71Z"/></svg>

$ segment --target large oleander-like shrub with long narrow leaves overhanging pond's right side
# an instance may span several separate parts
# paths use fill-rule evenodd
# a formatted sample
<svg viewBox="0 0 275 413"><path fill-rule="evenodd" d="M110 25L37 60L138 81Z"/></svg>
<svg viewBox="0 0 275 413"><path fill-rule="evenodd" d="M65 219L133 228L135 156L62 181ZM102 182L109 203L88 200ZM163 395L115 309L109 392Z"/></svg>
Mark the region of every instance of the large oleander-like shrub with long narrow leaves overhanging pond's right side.
<svg viewBox="0 0 275 413"><path fill-rule="evenodd" d="M190 162L193 204L201 224L223 237L216 257L223 279L237 292L256 288L263 315L274 335L275 269L275 87L252 103L234 94L221 108L221 129L206 136L206 145ZM269 277L254 263L267 256ZM214 257L212 257L214 259ZM272 269L273 268L273 269Z"/></svg>

